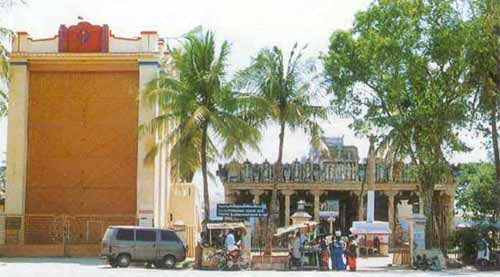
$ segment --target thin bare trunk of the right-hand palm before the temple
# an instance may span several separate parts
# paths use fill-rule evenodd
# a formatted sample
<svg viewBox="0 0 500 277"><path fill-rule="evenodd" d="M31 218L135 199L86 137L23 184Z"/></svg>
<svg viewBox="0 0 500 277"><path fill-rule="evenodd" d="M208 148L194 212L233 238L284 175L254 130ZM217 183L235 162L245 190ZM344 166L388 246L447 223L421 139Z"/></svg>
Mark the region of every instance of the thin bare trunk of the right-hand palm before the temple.
<svg viewBox="0 0 500 277"><path fill-rule="evenodd" d="M279 134L279 149L278 149L278 159L274 165L274 186L273 192L271 194L271 203L269 204L269 216L267 218L267 228L266 228L266 247L264 249L265 255L271 255L273 248L273 236L274 236L274 221L276 217L277 199L278 199L278 183L281 181L282 174L282 161L283 161L283 145L285 141L285 122L280 122L280 134Z"/></svg>

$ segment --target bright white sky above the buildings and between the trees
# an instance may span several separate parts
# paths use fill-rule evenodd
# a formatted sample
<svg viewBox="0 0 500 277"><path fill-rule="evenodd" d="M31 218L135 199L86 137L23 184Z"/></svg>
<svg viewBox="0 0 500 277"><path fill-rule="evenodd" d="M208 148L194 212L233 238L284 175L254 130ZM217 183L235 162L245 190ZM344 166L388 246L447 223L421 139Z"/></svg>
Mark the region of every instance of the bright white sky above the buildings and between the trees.
<svg viewBox="0 0 500 277"><path fill-rule="evenodd" d="M72 25L82 16L93 24L108 24L115 35L138 36L144 30L156 30L160 37L176 37L196 26L216 32L219 40L232 45L230 72L249 65L262 47L290 49L295 42L308 44L305 56L318 57L326 52L328 38L338 29L348 29L357 11L366 9L368 0L26 0L0 16L0 24L14 31L27 31L33 38L52 37L60 24ZM6 16L5 16L6 15ZM167 39L168 41L168 39ZM323 122L326 136L344 136L355 145L361 157L368 151L368 141L349 129L350 120L332 117ZM0 160L5 159L6 119L0 120ZM462 138L473 150L455 154L453 163L487 160L484 139L463 131ZM261 152L248 153L251 161L274 161L277 157L278 129L263 131ZM284 160L292 161L308 152L308 138L302 132L285 136ZM212 168L214 168L212 166ZM199 180L197 178L196 180ZM220 184L219 184L220 185Z"/></svg>

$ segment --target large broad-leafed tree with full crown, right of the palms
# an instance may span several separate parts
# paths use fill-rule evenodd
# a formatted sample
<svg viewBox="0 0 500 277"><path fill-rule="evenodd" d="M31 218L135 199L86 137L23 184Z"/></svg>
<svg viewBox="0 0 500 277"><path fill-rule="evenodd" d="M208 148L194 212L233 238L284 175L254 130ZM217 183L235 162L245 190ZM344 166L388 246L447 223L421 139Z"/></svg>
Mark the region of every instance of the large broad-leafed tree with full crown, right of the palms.
<svg viewBox="0 0 500 277"><path fill-rule="evenodd" d="M424 200L426 247L433 243L434 186L450 174L447 154L466 150L463 86L467 29L454 1L374 1L349 31L334 32L326 84L339 113L393 132L416 167Z"/></svg>

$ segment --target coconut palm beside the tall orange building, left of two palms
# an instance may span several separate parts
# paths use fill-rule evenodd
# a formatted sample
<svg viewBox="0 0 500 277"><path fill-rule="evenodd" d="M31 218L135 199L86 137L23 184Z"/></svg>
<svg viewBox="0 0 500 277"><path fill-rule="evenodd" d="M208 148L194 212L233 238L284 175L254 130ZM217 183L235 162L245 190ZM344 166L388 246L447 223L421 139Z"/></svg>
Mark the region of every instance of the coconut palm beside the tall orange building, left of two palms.
<svg viewBox="0 0 500 277"><path fill-rule="evenodd" d="M175 74L161 73L143 93L143 99L159 110L158 116L141 126L143 133L159 137L147 158L170 145L175 177L191 181L201 167L205 222L210 218L208 163L241 155L245 146L257 149L260 139L259 130L244 116L251 98L239 95L226 82L229 52L226 41L217 52L212 32L188 34L181 47L171 51Z"/></svg>

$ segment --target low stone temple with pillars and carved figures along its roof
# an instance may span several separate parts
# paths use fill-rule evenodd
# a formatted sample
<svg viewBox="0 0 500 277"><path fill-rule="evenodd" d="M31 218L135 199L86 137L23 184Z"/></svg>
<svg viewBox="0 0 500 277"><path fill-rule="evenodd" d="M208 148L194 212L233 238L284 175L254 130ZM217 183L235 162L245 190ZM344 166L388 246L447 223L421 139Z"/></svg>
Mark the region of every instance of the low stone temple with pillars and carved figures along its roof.
<svg viewBox="0 0 500 277"><path fill-rule="evenodd" d="M290 215L297 210L297 203L306 202L306 211L313 220L320 222L323 233L329 233L333 218L334 229L344 235L349 233L353 221L366 220L366 192L375 191L375 220L389 222L393 233L401 233L406 218L412 213L423 213L419 197L419 184L410 164L388 165L373 155L375 160L373 184L367 180L367 160L359 161L357 147L344 145L343 138L323 138L329 155L316 150L309 155L285 163L279 176L278 226L291 224ZM264 203L269 206L274 186L274 166L263 163L231 162L219 165L227 203ZM364 207L359 209L363 188ZM434 203L435 219L440 222L439 234L448 235L454 228L454 199L456 184L452 176L436 185ZM325 215L325 216L323 216Z"/></svg>

